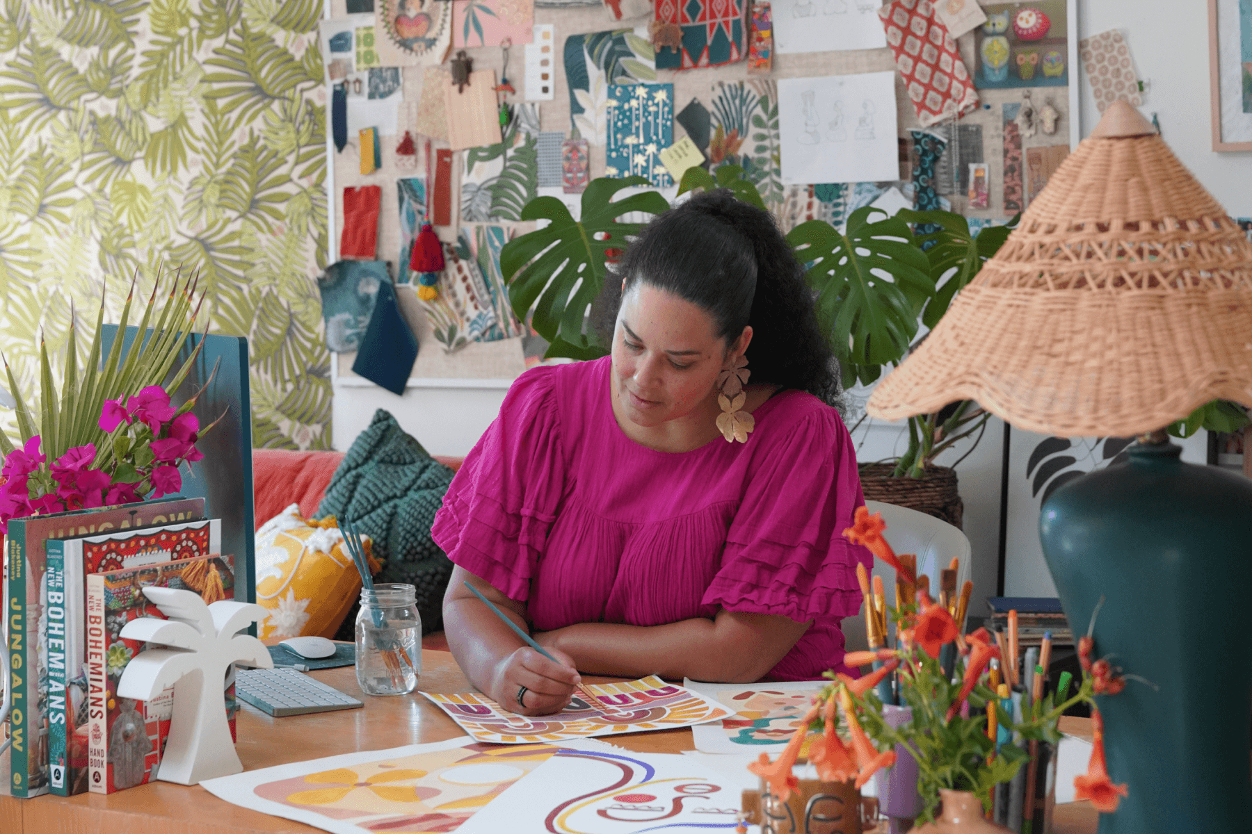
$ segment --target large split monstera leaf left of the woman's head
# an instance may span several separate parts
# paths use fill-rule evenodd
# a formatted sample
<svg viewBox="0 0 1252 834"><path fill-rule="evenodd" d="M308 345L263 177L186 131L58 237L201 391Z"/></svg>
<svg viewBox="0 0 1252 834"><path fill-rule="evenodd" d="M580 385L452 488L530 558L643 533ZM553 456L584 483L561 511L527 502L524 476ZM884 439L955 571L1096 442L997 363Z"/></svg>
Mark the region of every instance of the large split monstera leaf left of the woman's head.
<svg viewBox="0 0 1252 834"><path fill-rule="evenodd" d="M555 196L540 196L522 209L522 220L547 220L542 229L515 238L500 253L500 271L508 284L508 300L518 321L533 308L531 326L551 343L546 356L592 359L603 356L605 345L583 333L583 320L605 283L608 250L625 250L626 238L641 224L618 223L631 211L660 214L670 208L656 191L613 200L632 185L647 185L641 176L600 178L582 193L581 219Z"/></svg>

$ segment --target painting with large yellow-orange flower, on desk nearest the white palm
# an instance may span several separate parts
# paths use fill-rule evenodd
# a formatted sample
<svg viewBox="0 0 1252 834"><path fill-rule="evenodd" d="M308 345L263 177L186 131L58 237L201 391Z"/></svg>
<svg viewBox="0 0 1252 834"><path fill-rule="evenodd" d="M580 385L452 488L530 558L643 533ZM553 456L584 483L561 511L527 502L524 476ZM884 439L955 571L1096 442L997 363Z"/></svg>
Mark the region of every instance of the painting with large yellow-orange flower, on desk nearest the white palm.
<svg viewBox="0 0 1252 834"><path fill-rule="evenodd" d="M557 748L466 738L351 753L200 783L225 801L336 834L454 831Z"/></svg>

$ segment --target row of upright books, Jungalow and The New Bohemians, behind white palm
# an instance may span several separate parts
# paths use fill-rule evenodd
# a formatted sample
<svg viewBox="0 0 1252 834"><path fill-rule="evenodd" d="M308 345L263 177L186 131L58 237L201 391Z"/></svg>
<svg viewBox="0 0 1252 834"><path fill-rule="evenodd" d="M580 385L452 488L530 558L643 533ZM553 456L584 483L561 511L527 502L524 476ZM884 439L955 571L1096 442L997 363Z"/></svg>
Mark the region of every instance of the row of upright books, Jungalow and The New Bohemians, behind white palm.
<svg viewBox="0 0 1252 834"><path fill-rule="evenodd" d="M116 698L143 644L121 640L136 616L162 616L143 588L234 598L234 560L203 498L11 519L5 600L13 660L13 796L113 793L146 783L169 733L173 688L150 701ZM227 705L234 734L233 680Z"/></svg>

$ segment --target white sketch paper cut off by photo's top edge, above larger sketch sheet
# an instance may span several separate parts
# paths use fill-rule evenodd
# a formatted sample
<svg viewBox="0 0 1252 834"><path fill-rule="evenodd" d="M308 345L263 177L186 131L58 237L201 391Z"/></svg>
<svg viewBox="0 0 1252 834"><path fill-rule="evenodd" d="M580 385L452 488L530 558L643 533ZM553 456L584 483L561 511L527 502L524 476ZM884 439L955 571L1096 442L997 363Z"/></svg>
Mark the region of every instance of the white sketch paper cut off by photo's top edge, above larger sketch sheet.
<svg viewBox="0 0 1252 834"><path fill-rule="evenodd" d="M879 0L774 0L774 49L833 53L881 49L886 33Z"/></svg>

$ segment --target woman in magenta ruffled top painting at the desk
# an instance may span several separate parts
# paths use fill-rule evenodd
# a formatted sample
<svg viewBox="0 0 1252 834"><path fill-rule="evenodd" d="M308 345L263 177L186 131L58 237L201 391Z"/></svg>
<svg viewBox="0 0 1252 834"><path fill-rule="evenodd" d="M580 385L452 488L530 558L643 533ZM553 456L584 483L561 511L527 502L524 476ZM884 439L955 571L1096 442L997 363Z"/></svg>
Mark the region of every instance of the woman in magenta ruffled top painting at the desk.
<svg viewBox="0 0 1252 834"><path fill-rule="evenodd" d="M466 675L546 715L578 671L846 671L839 624L870 555L840 533L864 500L838 366L772 218L725 190L656 216L597 314L611 355L518 378L436 518Z"/></svg>

